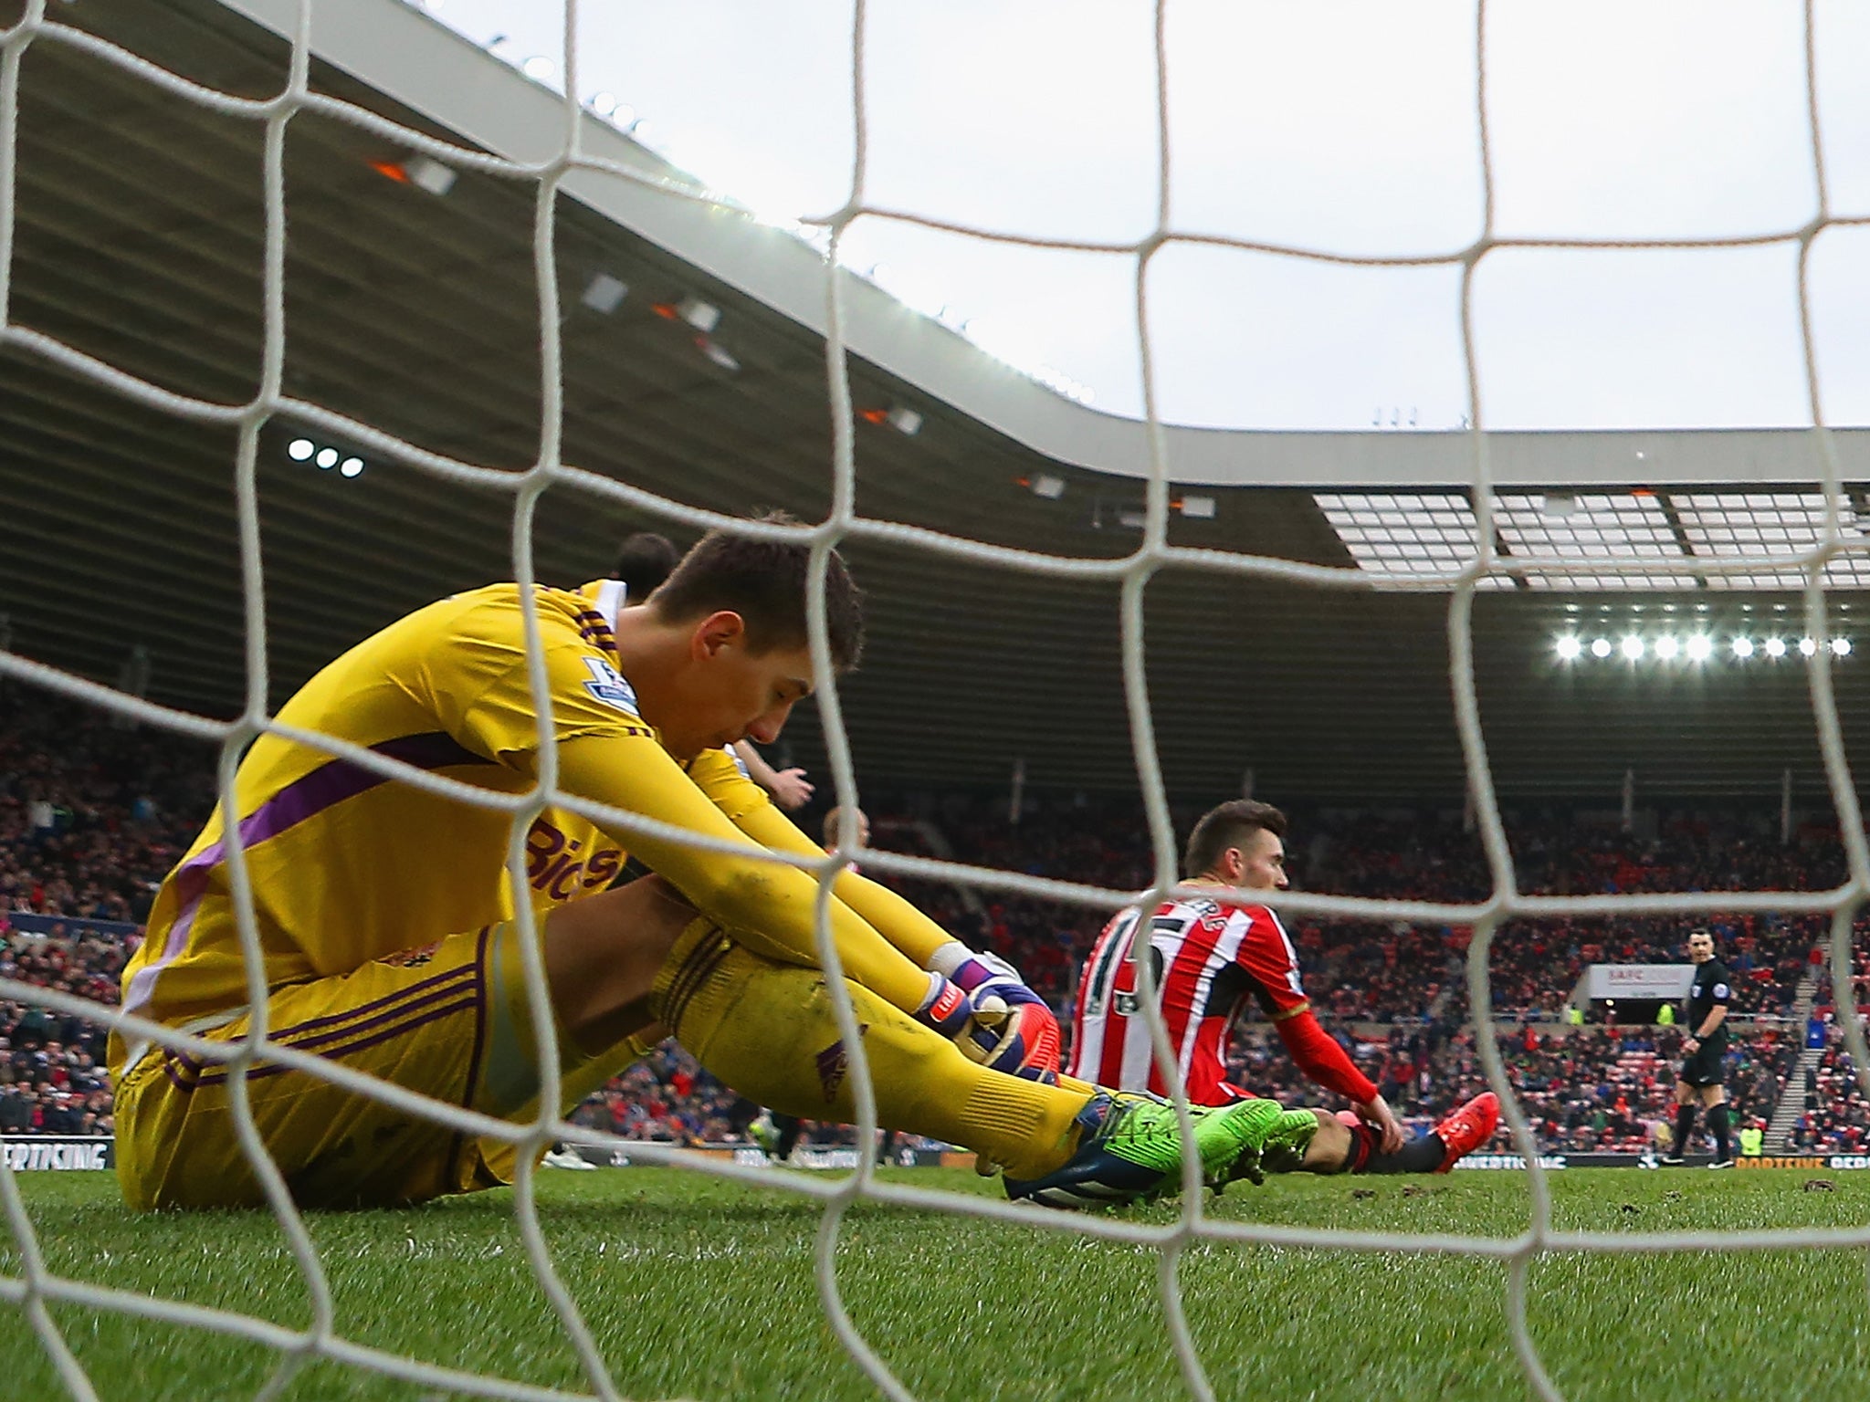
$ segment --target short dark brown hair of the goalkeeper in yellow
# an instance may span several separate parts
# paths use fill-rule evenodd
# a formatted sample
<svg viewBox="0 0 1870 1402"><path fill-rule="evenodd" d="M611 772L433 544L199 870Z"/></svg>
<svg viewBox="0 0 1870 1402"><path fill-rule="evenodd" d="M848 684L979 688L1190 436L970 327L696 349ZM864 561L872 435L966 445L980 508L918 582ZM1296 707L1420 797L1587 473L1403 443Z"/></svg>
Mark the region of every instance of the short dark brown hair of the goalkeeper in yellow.
<svg viewBox="0 0 1870 1402"><path fill-rule="evenodd" d="M797 525L785 512L765 512L755 522ZM770 652L774 647L806 643L806 574L812 546L709 531L656 591L651 606L669 622L703 619L731 611L746 621L748 647ZM864 651L864 594L851 581L843 557L834 550L825 568L825 632L830 662L851 671Z"/></svg>

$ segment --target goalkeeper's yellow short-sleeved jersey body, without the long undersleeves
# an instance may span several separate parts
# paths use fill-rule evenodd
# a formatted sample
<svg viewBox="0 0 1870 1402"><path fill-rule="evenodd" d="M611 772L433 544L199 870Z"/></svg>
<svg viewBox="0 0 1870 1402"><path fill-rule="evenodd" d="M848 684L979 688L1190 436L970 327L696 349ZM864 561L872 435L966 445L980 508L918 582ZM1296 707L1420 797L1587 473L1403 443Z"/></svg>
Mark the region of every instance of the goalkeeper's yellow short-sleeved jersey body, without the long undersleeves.
<svg viewBox="0 0 1870 1402"><path fill-rule="evenodd" d="M535 593L554 731L561 742L610 737L660 753L615 669L610 624L621 591L608 581ZM477 789L525 789L539 720L518 587L488 585L391 624L312 677L279 722ZM271 733L241 759L234 789L267 987L514 914L509 813ZM585 819L552 809L525 836L525 899L542 912L604 890L623 856ZM144 946L123 970L123 1008L176 1023L245 1002L217 809L157 894Z"/></svg>

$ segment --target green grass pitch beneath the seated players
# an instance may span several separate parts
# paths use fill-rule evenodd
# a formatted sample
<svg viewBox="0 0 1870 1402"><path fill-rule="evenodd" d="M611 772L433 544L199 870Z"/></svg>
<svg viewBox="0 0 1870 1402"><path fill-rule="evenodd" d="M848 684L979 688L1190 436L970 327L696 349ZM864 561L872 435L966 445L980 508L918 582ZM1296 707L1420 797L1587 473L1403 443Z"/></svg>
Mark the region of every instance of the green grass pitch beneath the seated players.
<svg viewBox="0 0 1870 1402"><path fill-rule="evenodd" d="M1554 1172L1563 1228L1849 1226L1870 1174ZM892 1174L963 1193L967 1172ZM137 1217L103 1174L22 1174L49 1266L75 1279L239 1309L288 1327L309 1312L266 1215ZM563 1279L628 1396L875 1396L819 1310L817 1211L795 1195L679 1170L540 1174ZM1365 1196L1374 1193L1374 1196ZM1288 1178L1236 1185L1219 1215L1410 1232L1502 1234L1526 1219L1518 1174ZM1137 1209L1171 1221L1172 1208ZM421 1359L582 1389L570 1344L527 1271L509 1193L408 1211L309 1217L348 1338ZM19 1273L11 1241L0 1271ZM937 1398L1186 1396L1154 1252L896 1208L845 1223L840 1280L898 1376ZM1507 1342L1505 1267L1442 1256L1197 1247L1182 1284L1221 1398L1530 1396ZM1569 1398L1797 1396L1861 1402L1870 1376L1864 1252L1554 1256L1528 1318ZM56 1307L103 1398L251 1396L273 1355L193 1329ZM24 1318L0 1309L0 1396L62 1396ZM434 1398L320 1363L309 1398Z"/></svg>

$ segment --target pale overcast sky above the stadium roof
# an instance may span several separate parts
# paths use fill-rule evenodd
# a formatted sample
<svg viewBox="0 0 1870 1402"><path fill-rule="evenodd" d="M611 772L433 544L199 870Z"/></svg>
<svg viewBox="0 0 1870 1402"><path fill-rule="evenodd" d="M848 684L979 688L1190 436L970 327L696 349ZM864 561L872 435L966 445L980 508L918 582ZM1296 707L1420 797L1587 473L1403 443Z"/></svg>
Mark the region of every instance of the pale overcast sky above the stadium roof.
<svg viewBox="0 0 1870 1402"><path fill-rule="evenodd" d="M439 0L509 62L554 60L557 0ZM763 215L851 191L851 9L832 0L585 0L580 90ZM1156 228L1152 6L873 0L868 206L1032 237ZM1784 232L1818 209L1799 6L1507 0L1489 9L1496 236ZM1169 6L1171 228L1350 254L1481 232L1472 4ZM1820 0L1831 213L1870 215L1870 6ZM847 262L1141 413L1135 258L866 217ZM1797 249L1492 250L1475 273L1496 428L1810 422ZM1369 428L1466 413L1459 267L1361 269L1171 245L1150 264L1159 411L1186 424ZM1812 247L1823 413L1870 422L1870 228Z"/></svg>

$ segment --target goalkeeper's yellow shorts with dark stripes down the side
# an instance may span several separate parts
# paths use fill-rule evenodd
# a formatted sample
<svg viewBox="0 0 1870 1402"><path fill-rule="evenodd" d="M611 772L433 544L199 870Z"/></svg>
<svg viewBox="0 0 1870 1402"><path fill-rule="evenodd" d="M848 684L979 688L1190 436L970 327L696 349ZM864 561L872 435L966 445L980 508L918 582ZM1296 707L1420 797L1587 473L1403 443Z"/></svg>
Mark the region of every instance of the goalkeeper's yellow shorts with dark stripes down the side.
<svg viewBox="0 0 1870 1402"><path fill-rule="evenodd" d="M267 1041L378 1077L441 1105L505 1120L537 1114L533 1017L511 922L451 935L346 974L290 983L267 998ZM204 1019L204 1023L209 1019ZM239 1041L245 1009L211 1026ZM563 1107L634 1052L578 1056L559 1032ZM239 1146L228 1067L166 1047L133 1049L116 1088L116 1172L133 1208L260 1206ZM292 1196L309 1208L423 1202L512 1181L516 1148L267 1062L247 1073L254 1127Z"/></svg>

